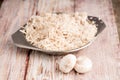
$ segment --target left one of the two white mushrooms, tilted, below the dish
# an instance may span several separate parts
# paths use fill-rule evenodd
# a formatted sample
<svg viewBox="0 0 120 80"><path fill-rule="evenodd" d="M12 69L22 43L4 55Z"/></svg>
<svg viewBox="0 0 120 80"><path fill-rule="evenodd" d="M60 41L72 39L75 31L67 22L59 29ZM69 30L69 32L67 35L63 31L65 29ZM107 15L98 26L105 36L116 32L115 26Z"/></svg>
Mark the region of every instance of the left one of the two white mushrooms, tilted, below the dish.
<svg viewBox="0 0 120 80"><path fill-rule="evenodd" d="M59 63L59 69L64 73L69 73L75 66L76 56L68 54L64 56Z"/></svg>

